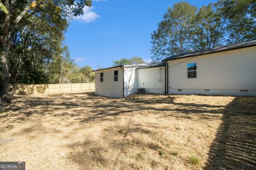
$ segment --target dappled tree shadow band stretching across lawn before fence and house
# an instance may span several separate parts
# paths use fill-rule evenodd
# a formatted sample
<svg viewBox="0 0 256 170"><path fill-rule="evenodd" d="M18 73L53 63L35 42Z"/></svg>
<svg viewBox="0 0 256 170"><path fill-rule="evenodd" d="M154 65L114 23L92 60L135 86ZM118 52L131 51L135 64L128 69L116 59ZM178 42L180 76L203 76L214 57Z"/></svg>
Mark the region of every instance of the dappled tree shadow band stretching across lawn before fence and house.
<svg viewBox="0 0 256 170"><path fill-rule="evenodd" d="M28 95L29 96L29 95ZM78 117L77 120L81 122L87 122L91 120L101 119L103 117L113 117L120 114L129 112L170 112L175 111L181 114L175 116L181 118L189 118L189 113L201 114L202 118L211 119L212 115L205 115L205 113L221 114L225 105L207 105L207 104L187 104L187 103L175 103L173 100L177 98L167 96L162 100L145 100L146 103L138 102L137 99L113 99L107 97L95 96L94 92L83 92L70 94L49 94L46 96L15 96L14 104L5 108L5 112L13 111L15 114L0 115L1 118L16 117L24 115L23 118L27 120L32 115L45 115L50 114L53 116L67 116ZM20 105L16 105L19 103ZM165 107L155 107L154 104L170 104ZM175 106L175 107L173 107ZM97 108L97 109L95 109ZM216 109L218 108L218 109ZM66 112L66 109L76 109L75 112ZM19 111L19 113L17 112ZM61 111L56 113L55 111ZM85 114L88 113L88 114ZM174 116L166 114L166 116ZM20 120L21 121L21 120Z"/></svg>

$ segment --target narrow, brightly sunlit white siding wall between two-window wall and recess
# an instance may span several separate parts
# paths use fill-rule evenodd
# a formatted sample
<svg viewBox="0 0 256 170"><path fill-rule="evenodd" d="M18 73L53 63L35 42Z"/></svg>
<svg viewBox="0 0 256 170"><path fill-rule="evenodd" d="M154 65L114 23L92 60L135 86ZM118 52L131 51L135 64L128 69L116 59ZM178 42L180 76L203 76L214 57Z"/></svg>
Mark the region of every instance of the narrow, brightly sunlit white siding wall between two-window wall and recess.
<svg viewBox="0 0 256 170"><path fill-rule="evenodd" d="M138 86L136 68L136 66L124 67L124 97L137 92Z"/></svg>

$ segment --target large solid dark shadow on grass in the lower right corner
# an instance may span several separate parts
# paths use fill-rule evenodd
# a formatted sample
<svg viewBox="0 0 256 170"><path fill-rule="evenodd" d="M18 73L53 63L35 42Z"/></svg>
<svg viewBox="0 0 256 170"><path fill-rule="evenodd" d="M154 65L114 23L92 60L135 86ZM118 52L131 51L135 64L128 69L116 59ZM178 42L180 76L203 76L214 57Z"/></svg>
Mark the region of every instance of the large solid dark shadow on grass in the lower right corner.
<svg viewBox="0 0 256 170"><path fill-rule="evenodd" d="M226 106L204 169L256 169L256 97Z"/></svg>

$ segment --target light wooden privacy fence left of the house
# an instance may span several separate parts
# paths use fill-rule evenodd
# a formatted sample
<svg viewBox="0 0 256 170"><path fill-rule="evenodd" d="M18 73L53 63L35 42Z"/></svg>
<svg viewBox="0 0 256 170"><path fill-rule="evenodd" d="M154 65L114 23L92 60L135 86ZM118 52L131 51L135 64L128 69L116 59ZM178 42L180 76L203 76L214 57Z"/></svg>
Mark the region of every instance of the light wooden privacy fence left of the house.
<svg viewBox="0 0 256 170"><path fill-rule="evenodd" d="M95 83L69 84L16 84L16 94L45 94L50 92L73 92L95 90Z"/></svg>

